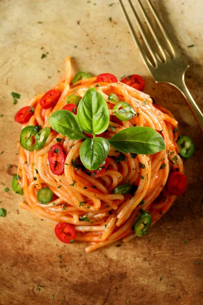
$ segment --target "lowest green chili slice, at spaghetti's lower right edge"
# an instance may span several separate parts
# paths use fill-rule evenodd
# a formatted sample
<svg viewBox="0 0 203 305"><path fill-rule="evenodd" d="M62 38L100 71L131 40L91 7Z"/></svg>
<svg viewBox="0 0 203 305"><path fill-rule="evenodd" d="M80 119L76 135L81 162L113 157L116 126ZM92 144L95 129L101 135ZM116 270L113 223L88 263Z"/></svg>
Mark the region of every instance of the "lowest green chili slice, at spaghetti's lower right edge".
<svg viewBox="0 0 203 305"><path fill-rule="evenodd" d="M133 227L136 231L136 234L141 237L147 233L149 227L152 223L152 217L149 212L142 212L141 215L138 217L136 222L134 223Z"/></svg>

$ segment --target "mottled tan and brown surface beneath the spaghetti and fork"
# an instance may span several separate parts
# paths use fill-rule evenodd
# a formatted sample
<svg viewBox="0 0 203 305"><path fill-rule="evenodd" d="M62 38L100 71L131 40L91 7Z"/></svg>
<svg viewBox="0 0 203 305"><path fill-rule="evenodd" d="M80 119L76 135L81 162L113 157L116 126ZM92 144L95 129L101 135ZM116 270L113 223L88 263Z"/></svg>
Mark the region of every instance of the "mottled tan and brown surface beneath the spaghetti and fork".
<svg viewBox="0 0 203 305"><path fill-rule="evenodd" d="M203 110L202 1L153 3L190 64L186 82ZM7 209L0 219L0 304L202 304L202 133L184 98L177 89L154 83L116 0L3 0L0 9L0 207ZM74 57L75 70L92 75L143 75L145 92L174 113L180 134L191 136L196 146L185 161L187 191L164 219L142 238L89 254L83 243L58 242L53 227L21 210L21 198L11 190L20 132L14 114L59 80L66 55ZM17 105L11 92L21 95Z"/></svg>

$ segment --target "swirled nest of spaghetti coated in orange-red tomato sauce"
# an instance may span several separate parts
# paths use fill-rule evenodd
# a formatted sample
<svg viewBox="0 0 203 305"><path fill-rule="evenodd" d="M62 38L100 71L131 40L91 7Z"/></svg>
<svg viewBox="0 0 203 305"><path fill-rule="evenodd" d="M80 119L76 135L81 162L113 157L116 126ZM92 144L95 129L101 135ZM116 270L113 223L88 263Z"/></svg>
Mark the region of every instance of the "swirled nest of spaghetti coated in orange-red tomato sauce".
<svg viewBox="0 0 203 305"><path fill-rule="evenodd" d="M108 105L110 123L103 137L112 138L119 131L132 127L150 127L162 133L165 149L153 155L135 155L120 153L110 146L109 165L103 174L93 177L81 165L79 149L82 139L70 140L66 136L51 130L44 147L28 151L19 144L18 175L26 202L20 206L52 223L68 223L75 228L76 240L89 241L87 252L110 244L118 239L124 242L136 237L133 224L142 210L152 217L152 225L161 218L175 200L167 191L166 181L170 170L183 172L183 164L178 156L176 144L178 123L165 108L153 103L152 99L120 82L96 82L96 77L82 79L74 85L72 81L70 58L66 58L67 75L63 82L53 89L60 98L54 108L43 109L40 100L43 94L33 98L28 106L35 113L23 128L29 125L50 127L49 117L62 109L70 95L84 96L87 89L94 87ZM120 101L128 103L136 112L130 120L116 120L113 107L115 102L108 99L116 94ZM55 175L50 170L48 152L58 144L63 146L66 154L64 172ZM129 184L129 193L114 194L118 186ZM53 192L51 202L42 204L37 194L48 187Z"/></svg>

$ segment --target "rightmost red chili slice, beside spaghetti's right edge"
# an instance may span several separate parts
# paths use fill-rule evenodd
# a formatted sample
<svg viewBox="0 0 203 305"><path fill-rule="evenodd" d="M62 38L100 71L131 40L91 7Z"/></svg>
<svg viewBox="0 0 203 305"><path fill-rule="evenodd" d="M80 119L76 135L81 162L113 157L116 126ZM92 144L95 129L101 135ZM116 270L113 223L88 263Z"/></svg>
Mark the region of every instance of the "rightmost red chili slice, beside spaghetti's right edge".
<svg viewBox="0 0 203 305"><path fill-rule="evenodd" d="M172 195L182 195L187 187L187 178L184 174L174 171L168 177L167 189Z"/></svg>

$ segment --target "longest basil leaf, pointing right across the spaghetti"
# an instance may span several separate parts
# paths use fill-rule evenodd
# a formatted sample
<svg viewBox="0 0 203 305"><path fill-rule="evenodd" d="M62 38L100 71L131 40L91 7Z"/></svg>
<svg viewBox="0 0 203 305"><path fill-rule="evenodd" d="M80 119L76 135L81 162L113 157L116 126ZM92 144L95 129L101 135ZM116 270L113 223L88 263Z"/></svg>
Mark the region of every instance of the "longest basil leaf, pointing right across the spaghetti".
<svg viewBox="0 0 203 305"><path fill-rule="evenodd" d="M162 136L150 127L126 128L108 141L121 153L151 155L165 148Z"/></svg>

